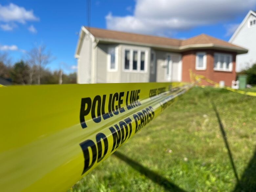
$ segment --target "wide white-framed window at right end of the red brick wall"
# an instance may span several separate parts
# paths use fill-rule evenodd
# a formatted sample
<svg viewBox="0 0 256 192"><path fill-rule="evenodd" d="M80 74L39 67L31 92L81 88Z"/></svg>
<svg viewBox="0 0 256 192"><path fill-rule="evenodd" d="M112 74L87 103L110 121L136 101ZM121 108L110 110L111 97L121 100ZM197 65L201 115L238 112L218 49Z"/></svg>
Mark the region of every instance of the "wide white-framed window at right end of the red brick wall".
<svg viewBox="0 0 256 192"><path fill-rule="evenodd" d="M232 71L232 55L224 53L214 54L214 70Z"/></svg>

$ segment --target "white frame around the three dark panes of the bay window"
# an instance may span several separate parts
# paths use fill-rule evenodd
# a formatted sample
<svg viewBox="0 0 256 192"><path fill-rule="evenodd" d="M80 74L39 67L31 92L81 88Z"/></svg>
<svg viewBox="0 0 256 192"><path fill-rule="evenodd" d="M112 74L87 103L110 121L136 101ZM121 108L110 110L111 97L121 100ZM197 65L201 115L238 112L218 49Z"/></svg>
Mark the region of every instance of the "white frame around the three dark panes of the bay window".
<svg viewBox="0 0 256 192"><path fill-rule="evenodd" d="M124 68L125 63L125 51L130 51L130 62L129 62L129 69ZM133 70L133 51L137 51L138 53L138 60L137 60L137 70ZM145 60L144 60L144 70L140 70L140 53L145 52ZM124 72L132 72L132 73L147 73L148 68L148 50L145 49L133 49L129 47L123 48L123 54L122 54L122 69Z"/></svg>

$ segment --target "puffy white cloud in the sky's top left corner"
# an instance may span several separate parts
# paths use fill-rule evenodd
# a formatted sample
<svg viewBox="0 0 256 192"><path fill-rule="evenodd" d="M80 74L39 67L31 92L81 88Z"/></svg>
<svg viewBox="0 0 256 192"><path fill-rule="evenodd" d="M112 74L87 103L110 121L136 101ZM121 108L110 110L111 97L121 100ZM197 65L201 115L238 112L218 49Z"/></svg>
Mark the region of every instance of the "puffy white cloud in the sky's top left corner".
<svg viewBox="0 0 256 192"><path fill-rule="evenodd" d="M27 11L24 7L19 7L13 3L7 6L0 4L0 21L4 22L19 22L38 21L39 18L33 13L33 10Z"/></svg>

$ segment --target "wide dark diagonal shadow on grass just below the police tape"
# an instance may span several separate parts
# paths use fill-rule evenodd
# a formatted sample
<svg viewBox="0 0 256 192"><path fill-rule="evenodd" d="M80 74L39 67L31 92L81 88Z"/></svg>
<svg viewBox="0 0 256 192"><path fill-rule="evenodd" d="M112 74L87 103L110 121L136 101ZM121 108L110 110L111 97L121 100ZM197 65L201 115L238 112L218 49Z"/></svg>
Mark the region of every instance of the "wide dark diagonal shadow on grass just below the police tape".
<svg viewBox="0 0 256 192"><path fill-rule="evenodd" d="M162 177L158 173L149 170L148 168L142 166L138 162L130 159L129 157L119 153L118 151L116 151L113 155L116 156L117 158L119 158L120 160L125 161L127 164L129 164L131 167L133 167L134 169L139 171L141 174L143 174L146 177L148 177L150 180L152 180L155 183L163 186L166 191L185 192L183 189L181 189L180 187L176 186L171 181L169 181L166 178Z"/></svg>

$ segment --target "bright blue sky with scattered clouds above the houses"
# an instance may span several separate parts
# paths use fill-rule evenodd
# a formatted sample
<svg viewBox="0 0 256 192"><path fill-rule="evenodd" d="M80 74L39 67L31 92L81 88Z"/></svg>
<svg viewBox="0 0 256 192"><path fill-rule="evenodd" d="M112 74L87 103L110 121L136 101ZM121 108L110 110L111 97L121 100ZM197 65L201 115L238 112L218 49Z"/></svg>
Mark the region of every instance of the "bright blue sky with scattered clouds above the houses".
<svg viewBox="0 0 256 192"><path fill-rule="evenodd" d="M157 2L157 3L156 3ZM91 0L91 26L189 38L205 33L228 41L256 0ZM47 67L75 71L78 35L87 22L86 0L1 0L0 50L12 63L46 45L55 59Z"/></svg>

